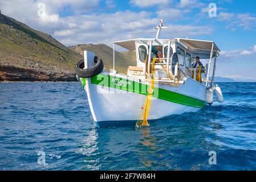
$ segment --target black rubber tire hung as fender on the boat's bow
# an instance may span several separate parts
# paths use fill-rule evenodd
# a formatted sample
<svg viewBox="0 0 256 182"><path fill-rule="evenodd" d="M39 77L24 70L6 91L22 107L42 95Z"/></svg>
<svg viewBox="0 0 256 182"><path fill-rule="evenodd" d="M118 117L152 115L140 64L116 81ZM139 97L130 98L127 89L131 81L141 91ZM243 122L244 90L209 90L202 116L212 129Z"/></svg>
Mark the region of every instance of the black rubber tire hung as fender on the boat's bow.
<svg viewBox="0 0 256 182"><path fill-rule="evenodd" d="M103 71L104 64L101 59L94 58L95 65L92 68L84 69L84 60L78 61L75 65L76 75L80 78L90 78L95 75L99 75L101 71Z"/></svg>

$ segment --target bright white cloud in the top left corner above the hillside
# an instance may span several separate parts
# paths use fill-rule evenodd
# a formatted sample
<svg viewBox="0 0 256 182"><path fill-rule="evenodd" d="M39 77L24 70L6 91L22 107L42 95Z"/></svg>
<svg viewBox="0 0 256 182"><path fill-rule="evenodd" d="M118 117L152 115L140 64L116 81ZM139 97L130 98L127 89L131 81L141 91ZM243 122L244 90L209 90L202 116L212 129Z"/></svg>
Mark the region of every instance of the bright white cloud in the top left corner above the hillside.
<svg viewBox="0 0 256 182"><path fill-rule="evenodd" d="M99 7L101 0L0 0L2 14L26 23L28 26L52 34L62 28L74 27L77 23L65 22L60 18L60 12L66 8L75 15L92 13ZM45 11L38 15L39 4L45 6Z"/></svg>

